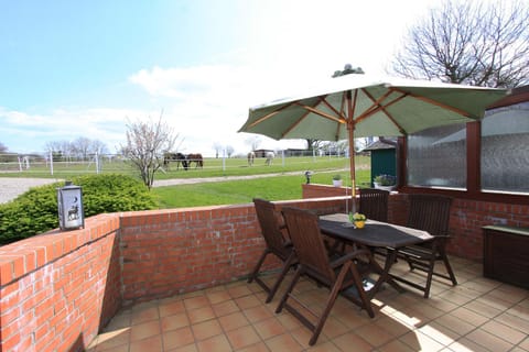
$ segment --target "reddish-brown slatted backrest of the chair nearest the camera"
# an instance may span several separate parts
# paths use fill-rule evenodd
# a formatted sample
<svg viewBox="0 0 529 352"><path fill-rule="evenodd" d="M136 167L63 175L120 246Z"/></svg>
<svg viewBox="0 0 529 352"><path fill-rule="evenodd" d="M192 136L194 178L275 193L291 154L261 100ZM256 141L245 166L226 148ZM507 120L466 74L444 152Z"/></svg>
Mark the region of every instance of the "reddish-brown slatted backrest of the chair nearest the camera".
<svg viewBox="0 0 529 352"><path fill-rule="evenodd" d="M282 209L282 213L299 263L309 268L311 275L334 282L335 275L320 232L317 216L309 210L288 207Z"/></svg>

